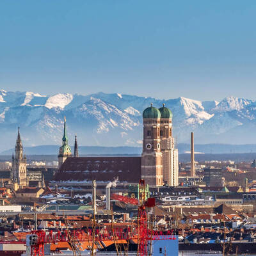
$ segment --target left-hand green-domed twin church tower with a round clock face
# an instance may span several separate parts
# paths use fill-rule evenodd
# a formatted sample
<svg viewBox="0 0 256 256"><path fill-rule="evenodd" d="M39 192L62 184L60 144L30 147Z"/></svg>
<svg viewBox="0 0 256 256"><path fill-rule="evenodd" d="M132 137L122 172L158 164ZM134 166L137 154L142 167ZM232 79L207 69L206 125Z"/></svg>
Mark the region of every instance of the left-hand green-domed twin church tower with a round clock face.
<svg viewBox="0 0 256 256"><path fill-rule="evenodd" d="M163 186L163 163L160 138L161 113L151 106L143 111L143 151L141 179L148 186Z"/></svg>

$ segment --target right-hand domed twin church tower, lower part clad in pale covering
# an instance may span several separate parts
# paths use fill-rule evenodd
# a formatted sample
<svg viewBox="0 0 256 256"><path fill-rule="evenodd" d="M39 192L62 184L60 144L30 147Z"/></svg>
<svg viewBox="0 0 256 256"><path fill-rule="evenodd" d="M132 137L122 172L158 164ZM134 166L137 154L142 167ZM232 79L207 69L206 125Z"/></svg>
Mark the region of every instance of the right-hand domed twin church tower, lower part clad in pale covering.
<svg viewBox="0 0 256 256"><path fill-rule="evenodd" d="M179 156L172 137L172 111L163 104L159 108L160 120L160 145L163 156L163 181L168 186L179 184Z"/></svg>

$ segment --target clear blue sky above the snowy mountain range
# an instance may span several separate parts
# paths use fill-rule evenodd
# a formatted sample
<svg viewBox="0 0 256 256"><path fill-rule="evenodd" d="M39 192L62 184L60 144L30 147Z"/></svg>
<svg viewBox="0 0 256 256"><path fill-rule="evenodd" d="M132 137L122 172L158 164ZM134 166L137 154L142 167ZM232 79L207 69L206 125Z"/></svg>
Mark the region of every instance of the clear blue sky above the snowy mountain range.
<svg viewBox="0 0 256 256"><path fill-rule="evenodd" d="M0 1L0 87L256 99L256 1Z"/></svg>

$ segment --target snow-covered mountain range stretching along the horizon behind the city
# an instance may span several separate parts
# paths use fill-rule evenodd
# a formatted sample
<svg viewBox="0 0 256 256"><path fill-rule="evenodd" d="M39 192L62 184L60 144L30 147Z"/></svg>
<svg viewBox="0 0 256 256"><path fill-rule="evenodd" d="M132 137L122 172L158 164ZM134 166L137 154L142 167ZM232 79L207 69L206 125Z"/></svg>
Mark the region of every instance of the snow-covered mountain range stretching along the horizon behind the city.
<svg viewBox="0 0 256 256"><path fill-rule="evenodd" d="M18 126L27 147L60 145L64 116L70 145L77 134L80 145L140 147L142 112L151 102L172 109L173 135L179 143L188 143L191 131L196 143L256 143L255 100L159 100L119 93L46 96L0 90L0 151L13 147Z"/></svg>

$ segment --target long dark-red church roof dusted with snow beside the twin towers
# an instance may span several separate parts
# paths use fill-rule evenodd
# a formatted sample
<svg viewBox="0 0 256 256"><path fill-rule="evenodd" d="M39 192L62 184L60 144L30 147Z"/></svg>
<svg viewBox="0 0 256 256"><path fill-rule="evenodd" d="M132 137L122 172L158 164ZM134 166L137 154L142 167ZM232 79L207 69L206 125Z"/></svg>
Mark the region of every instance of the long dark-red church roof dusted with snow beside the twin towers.
<svg viewBox="0 0 256 256"><path fill-rule="evenodd" d="M68 157L54 176L56 181L100 180L118 177L121 182L138 183L141 157Z"/></svg>

